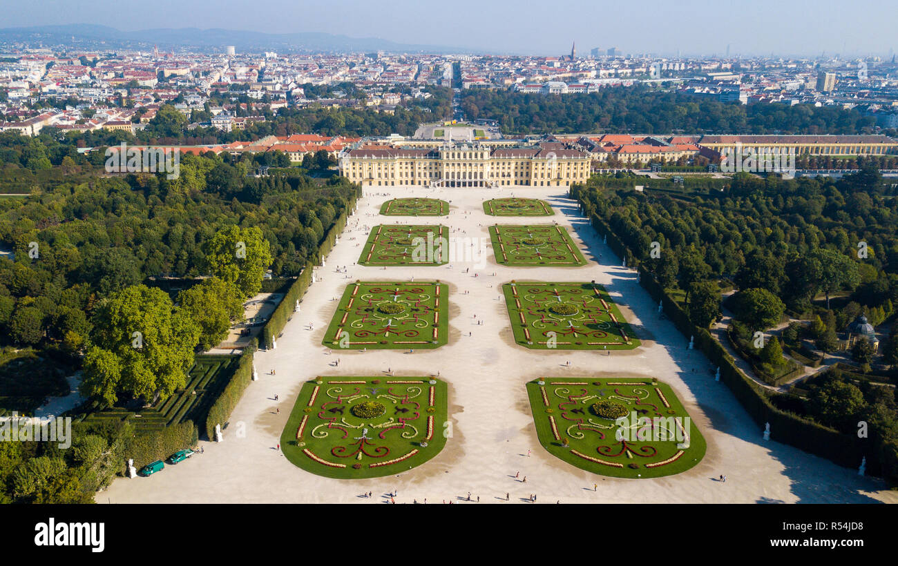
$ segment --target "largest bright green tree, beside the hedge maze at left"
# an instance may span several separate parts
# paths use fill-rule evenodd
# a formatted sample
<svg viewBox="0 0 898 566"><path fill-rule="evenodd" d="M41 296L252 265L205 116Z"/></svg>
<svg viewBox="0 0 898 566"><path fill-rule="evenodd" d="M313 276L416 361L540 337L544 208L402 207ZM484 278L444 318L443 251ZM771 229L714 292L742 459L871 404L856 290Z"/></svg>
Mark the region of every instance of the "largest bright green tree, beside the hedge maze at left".
<svg viewBox="0 0 898 566"><path fill-rule="evenodd" d="M152 399L187 385L200 328L169 296L145 285L113 294L97 309L84 358L84 396L115 403Z"/></svg>

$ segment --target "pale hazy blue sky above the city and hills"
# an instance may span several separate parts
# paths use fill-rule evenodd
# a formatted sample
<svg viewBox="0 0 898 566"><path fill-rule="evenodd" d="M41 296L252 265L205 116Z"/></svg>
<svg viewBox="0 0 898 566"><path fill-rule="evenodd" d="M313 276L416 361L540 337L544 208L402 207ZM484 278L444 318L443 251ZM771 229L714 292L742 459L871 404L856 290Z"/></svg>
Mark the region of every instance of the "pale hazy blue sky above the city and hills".
<svg viewBox="0 0 898 566"><path fill-rule="evenodd" d="M401 43L559 55L888 55L895 0L0 0L0 27L323 31Z"/></svg>

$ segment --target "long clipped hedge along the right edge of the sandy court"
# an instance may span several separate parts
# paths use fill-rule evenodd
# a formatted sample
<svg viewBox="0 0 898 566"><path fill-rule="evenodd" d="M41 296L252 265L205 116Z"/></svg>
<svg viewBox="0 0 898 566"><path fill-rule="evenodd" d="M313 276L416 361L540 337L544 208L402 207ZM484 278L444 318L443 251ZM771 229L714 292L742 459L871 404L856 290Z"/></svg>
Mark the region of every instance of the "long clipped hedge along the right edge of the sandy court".
<svg viewBox="0 0 898 566"><path fill-rule="evenodd" d="M581 204L585 199L580 198L580 193L585 187L571 187L571 196L578 198ZM609 247L619 256L627 258L627 265L634 265L634 254L627 248L604 222L603 218L593 214L591 218L594 229L600 236L607 236ZM746 377L734 363L733 358L726 353L723 346L718 344L705 328L693 325L686 312L673 300L656 281L655 275L647 271L644 266L638 266L640 284L646 289L654 300L660 300L667 318L674 326L686 336L695 336L695 347L708 356L711 363L720 368L720 381L723 382L743 405L745 411L758 425L758 437L761 437L764 423L770 422L770 438L800 448L814 454L825 457L836 464L847 467L857 467L861 458L867 457L867 471L870 474L878 474L881 470L879 455L865 446L862 440L852 436L841 434L839 431L824 427L821 424L801 418L797 414L779 410L770 403L768 393L753 379ZM661 376L659 376L661 377Z"/></svg>

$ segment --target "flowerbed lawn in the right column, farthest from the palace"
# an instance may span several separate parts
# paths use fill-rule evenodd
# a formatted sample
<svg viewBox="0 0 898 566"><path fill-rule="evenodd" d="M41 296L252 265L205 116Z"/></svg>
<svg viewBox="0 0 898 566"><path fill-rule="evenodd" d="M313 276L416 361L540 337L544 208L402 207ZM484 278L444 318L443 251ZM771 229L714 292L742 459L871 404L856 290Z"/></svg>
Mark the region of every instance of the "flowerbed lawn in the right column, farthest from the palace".
<svg viewBox="0 0 898 566"><path fill-rule="evenodd" d="M539 379L527 383L540 444L572 466L598 475L649 478L680 474L705 456L705 439L665 383L541 379L543 385ZM615 420L617 414L624 420Z"/></svg>

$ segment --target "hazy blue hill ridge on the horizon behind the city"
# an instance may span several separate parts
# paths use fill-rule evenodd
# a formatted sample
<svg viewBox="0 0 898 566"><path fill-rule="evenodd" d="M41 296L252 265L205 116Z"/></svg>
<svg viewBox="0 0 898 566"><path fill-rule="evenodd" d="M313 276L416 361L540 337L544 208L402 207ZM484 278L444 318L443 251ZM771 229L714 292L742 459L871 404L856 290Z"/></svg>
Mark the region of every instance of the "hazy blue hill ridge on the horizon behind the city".
<svg viewBox="0 0 898 566"><path fill-rule="evenodd" d="M387 51L391 53L472 53L469 48L434 45L410 45L378 38L350 38L314 31L263 33L240 30L200 30L198 28L121 31L90 23L45 25L30 28L0 29L0 44L23 43L72 48L195 48L221 51L233 45L238 53L258 51L329 52Z"/></svg>

